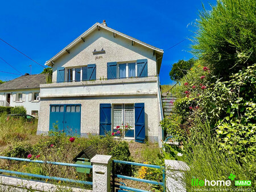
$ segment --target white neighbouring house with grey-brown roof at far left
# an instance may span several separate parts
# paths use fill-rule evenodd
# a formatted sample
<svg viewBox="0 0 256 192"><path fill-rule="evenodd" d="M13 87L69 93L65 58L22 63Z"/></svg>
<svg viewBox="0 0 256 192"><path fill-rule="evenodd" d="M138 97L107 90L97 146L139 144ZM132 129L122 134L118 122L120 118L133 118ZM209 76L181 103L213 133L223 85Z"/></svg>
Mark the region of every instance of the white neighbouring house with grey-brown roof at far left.
<svg viewBox="0 0 256 192"><path fill-rule="evenodd" d="M23 106L27 114L38 116L40 84L45 84L48 74L26 73L24 76L0 85L0 106Z"/></svg>

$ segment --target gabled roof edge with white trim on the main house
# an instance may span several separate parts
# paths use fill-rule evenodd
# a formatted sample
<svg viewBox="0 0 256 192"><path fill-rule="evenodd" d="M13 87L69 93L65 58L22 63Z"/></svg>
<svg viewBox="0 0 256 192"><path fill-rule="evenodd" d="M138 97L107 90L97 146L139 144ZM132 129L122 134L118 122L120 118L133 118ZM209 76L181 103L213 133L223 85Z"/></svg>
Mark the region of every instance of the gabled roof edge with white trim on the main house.
<svg viewBox="0 0 256 192"><path fill-rule="evenodd" d="M52 66L52 61L54 62L57 58L59 58L61 55L63 55L64 53L67 53L69 51L69 49L71 49L74 45L76 45L77 43L81 42L81 41L84 41L85 37L88 36L92 31L96 30L96 29L100 29L100 28L104 28L105 30L108 30L108 31L111 31L117 35L120 35L126 39L130 39L132 41L134 41L135 43L138 43L138 44L141 44L145 47L148 47L152 50L154 50L156 52L156 56L162 56L163 55L163 49L159 49L159 48L156 48L150 44L147 44L147 43L144 43L138 39L135 39L131 36L128 36L128 35L125 35L119 31L115 31L113 30L112 28L108 27L108 26L105 26L104 24L100 24L100 23L95 23L92 27L90 27L87 31L85 31L82 35L80 35L79 37L77 37L75 40L72 41L72 43L70 43L67 47L65 47L64 49L62 49L59 53L57 53L55 56L53 56L50 60L46 61L46 64L45 65L48 65L48 66ZM162 59L160 59L160 62L162 62ZM159 64L159 61L158 61L158 64ZM159 70L160 70L160 67L159 67Z"/></svg>

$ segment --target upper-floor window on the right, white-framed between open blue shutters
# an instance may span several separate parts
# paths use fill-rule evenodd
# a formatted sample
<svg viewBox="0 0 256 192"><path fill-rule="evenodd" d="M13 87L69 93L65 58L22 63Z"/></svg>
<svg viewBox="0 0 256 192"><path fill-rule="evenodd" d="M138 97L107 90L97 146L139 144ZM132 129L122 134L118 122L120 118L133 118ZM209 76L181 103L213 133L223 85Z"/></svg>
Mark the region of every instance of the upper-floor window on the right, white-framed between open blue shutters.
<svg viewBox="0 0 256 192"><path fill-rule="evenodd" d="M127 77L136 77L137 74L137 63L127 62L117 64L117 77L118 78L127 78Z"/></svg>

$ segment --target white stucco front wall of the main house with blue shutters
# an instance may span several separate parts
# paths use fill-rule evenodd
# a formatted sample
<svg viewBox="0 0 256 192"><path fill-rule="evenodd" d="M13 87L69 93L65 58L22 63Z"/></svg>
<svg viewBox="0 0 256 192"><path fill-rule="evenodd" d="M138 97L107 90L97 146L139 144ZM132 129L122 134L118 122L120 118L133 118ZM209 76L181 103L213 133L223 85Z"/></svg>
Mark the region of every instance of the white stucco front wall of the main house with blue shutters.
<svg viewBox="0 0 256 192"><path fill-rule="evenodd" d="M104 53L93 54L93 51L102 49ZM108 62L123 64L141 59L147 59L147 77L106 79ZM157 63L156 54L151 48L118 34L113 35L113 32L104 28L94 30L52 62L53 83L40 85L38 134L49 131L50 105L80 104L81 136L87 136L88 133L100 132L101 103L110 103L112 106L144 103L146 136L152 141L159 141L162 139L162 129L159 127L162 106L159 101ZM96 64L96 80L56 82L58 68L65 68L64 80L67 81L69 68L81 68L88 64Z"/></svg>

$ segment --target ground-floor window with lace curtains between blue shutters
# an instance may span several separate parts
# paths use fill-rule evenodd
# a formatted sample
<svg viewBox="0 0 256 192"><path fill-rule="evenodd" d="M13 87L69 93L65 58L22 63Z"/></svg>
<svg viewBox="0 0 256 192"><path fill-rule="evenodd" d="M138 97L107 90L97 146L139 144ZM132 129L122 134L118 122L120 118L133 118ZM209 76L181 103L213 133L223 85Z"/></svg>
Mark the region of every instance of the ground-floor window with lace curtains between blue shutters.
<svg viewBox="0 0 256 192"><path fill-rule="evenodd" d="M130 129L125 133L125 138L134 139L134 104L113 104L113 132L117 126L127 129L128 124Z"/></svg>

